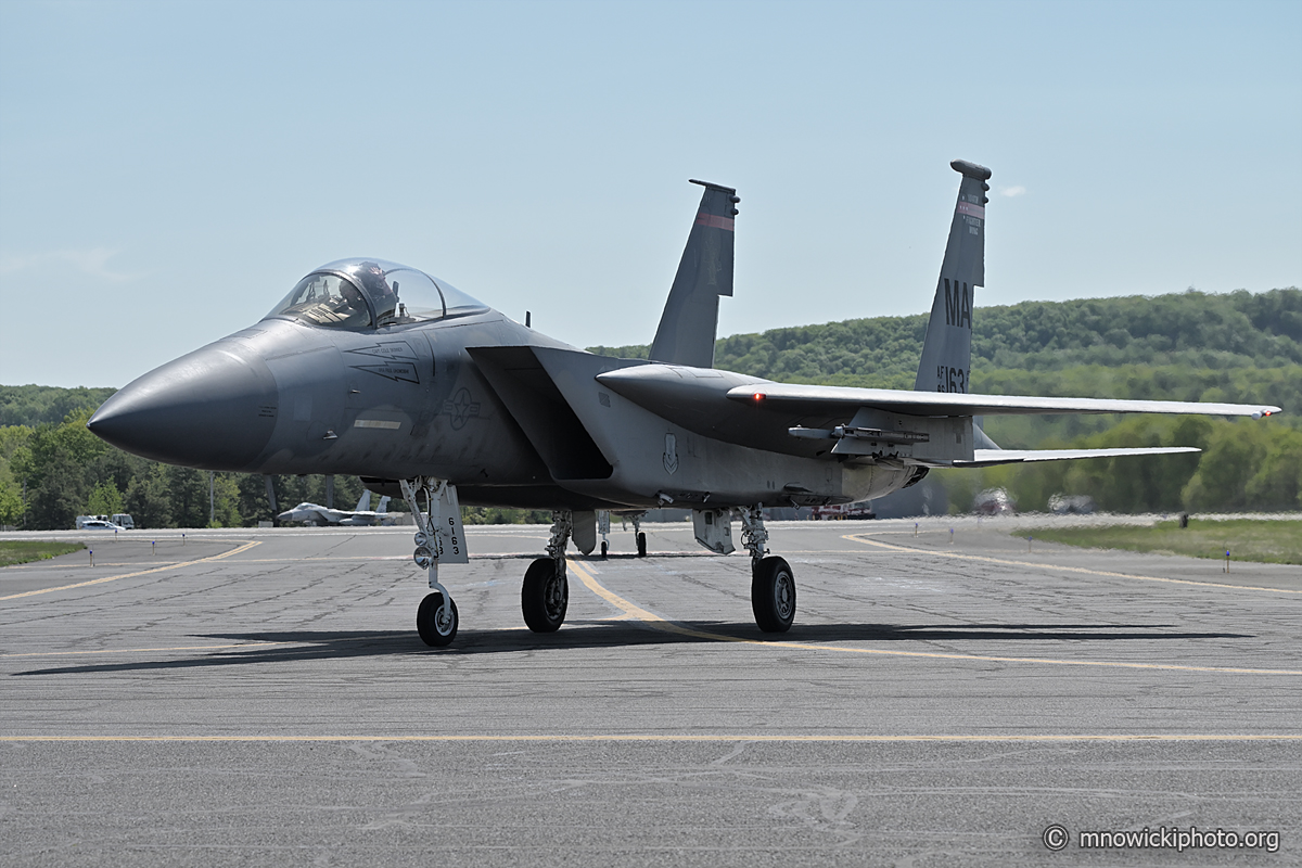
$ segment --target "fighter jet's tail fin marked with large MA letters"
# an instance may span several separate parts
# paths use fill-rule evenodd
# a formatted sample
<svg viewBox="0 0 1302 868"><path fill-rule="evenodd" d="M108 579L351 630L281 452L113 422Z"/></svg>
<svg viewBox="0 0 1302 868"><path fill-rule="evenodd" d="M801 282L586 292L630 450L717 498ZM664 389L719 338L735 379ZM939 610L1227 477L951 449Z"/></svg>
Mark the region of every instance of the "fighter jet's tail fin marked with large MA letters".
<svg viewBox="0 0 1302 868"><path fill-rule="evenodd" d="M973 294L986 285L986 193L990 169L966 160L949 164L961 172L958 203L949 224L949 243L940 265L936 301L931 305L927 340L918 364L918 392L970 392Z"/></svg>

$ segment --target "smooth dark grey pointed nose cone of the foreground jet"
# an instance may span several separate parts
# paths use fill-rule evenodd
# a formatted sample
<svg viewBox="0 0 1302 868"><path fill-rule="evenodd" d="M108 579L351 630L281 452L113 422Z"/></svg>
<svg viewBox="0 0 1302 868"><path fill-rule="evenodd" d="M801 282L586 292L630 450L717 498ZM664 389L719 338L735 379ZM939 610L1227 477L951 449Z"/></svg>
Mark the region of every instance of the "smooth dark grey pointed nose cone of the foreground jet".
<svg viewBox="0 0 1302 868"><path fill-rule="evenodd" d="M121 389L86 427L143 458L202 470L246 470L276 426L276 380L256 355L219 342Z"/></svg>

